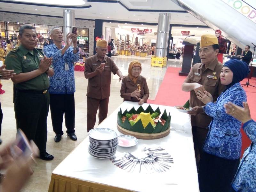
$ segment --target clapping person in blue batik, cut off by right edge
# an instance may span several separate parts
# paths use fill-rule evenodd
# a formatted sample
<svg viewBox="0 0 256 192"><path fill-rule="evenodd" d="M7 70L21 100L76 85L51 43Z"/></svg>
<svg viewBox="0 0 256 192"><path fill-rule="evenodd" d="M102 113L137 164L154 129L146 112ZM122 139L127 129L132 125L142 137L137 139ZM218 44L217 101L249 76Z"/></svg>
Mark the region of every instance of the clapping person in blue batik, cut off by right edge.
<svg viewBox="0 0 256 192"><path fill-rule="evenodd" d="M241 121L244 132L252 141L240 162L235 178L232 181L232 191L255 192L256 191L256 122L251 119L250 109L246 103L241 108L233 103L225 104L227 114Z"/></svg>

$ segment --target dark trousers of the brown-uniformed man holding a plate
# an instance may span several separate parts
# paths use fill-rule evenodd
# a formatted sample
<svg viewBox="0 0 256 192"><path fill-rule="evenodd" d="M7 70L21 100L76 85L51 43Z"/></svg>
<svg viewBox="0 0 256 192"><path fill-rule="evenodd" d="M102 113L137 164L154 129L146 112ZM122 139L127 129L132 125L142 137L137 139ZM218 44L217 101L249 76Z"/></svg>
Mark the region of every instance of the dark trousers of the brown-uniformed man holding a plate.
<svg viewBox="0 0 256 192"><path fill-rule="evenodd" d="M192 126L197 169L199 168L200 156L203 153L204 141L206 139L208 131L208 129Z"/></svg>

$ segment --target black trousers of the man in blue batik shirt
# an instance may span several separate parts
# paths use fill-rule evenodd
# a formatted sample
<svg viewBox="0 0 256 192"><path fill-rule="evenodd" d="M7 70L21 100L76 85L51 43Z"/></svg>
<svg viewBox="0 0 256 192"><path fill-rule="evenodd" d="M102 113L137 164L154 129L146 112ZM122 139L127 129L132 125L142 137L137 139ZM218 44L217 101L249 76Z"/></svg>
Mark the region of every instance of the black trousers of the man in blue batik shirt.
<svg viewBox="0 0 256 192"><path fill-rule="evenodd" d="M52 127L55 134L63 135L63 113L67 133L75 132L75 97L73 94L50 94Z"/></svg>

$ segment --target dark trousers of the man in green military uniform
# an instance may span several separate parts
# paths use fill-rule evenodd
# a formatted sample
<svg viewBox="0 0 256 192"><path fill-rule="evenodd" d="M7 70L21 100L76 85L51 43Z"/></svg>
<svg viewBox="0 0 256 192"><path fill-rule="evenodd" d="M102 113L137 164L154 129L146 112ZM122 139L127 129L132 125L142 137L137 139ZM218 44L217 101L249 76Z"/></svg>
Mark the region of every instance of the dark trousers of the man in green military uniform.
<svg viewBox="0 0 256 192"><path fill-rule="evenodd" d="M25 133L28 140L34 140L41 153L46 149L49 103L49 92L16 92L14 111L17 128Z"/></svg>

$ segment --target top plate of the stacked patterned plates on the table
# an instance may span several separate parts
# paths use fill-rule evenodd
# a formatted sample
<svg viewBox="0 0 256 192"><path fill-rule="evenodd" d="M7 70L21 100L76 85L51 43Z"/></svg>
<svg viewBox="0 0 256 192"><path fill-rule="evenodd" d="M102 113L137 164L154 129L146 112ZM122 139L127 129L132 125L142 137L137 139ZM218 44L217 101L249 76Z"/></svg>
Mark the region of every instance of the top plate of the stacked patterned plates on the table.
<svg viewBox="0 0 256 192"><path fill-rule="evenodd" d="M116 132L114 130L108 129L108 128L91 129L88 132L88 135L92 139L101 140L101 141L113 140L117 137Z"/></svg>

